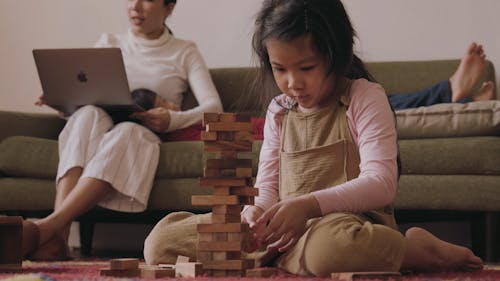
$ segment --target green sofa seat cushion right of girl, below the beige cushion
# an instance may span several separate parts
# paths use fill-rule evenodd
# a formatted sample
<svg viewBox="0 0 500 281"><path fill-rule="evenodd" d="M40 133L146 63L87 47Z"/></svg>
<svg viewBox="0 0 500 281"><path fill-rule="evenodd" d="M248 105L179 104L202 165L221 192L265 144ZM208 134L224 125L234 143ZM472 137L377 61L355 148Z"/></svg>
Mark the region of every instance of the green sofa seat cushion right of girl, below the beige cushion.
<svg viewBox="0 0 500 281"><path fill-rule="evenodd" d="M498 137L400 140L399 151L402 174L500 175Z"/></svg>

